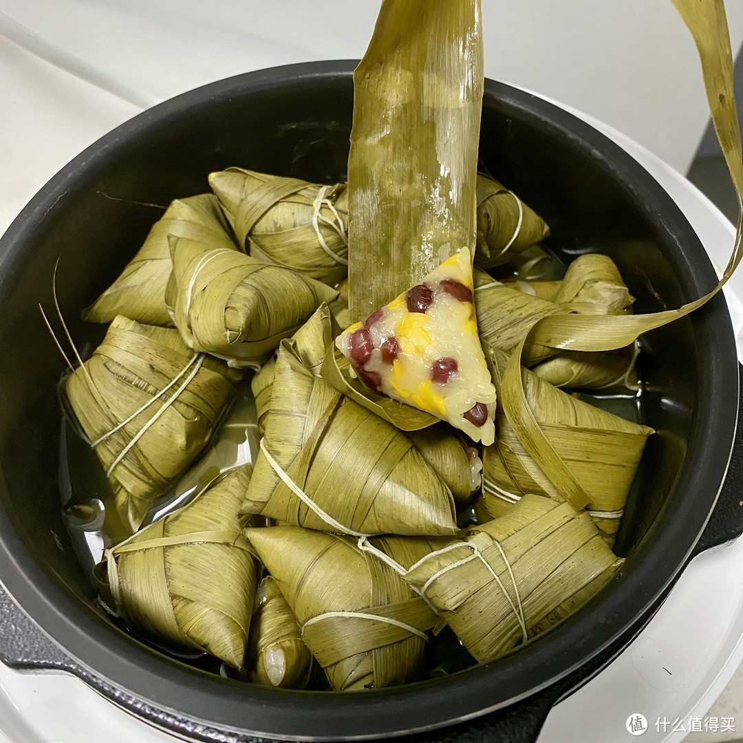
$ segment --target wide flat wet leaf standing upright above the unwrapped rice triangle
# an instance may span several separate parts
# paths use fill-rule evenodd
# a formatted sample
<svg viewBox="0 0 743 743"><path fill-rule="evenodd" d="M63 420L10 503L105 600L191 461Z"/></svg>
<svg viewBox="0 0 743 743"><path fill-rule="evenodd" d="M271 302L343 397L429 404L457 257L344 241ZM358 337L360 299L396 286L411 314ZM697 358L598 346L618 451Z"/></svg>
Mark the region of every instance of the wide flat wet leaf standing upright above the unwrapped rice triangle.
<svg viewBox="0 0 743 743"><path fill-rule="evenodd" d="M351 322L473 249L483 86L479 0L383 0L354 72Z"/></svg>

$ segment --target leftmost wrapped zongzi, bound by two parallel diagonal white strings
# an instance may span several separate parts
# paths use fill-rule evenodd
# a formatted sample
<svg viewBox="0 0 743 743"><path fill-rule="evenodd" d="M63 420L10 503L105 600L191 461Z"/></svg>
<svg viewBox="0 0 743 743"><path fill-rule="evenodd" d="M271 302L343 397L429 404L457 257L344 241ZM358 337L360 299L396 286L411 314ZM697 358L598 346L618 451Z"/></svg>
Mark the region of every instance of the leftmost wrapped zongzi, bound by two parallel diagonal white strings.
<svg viewBox="0 0 743 743"><path fill-rule="evenodd" d="M172 328L117 317L91 358L64 380L65 398L132 531L207 445L240 377L190 351Z"/></svg>

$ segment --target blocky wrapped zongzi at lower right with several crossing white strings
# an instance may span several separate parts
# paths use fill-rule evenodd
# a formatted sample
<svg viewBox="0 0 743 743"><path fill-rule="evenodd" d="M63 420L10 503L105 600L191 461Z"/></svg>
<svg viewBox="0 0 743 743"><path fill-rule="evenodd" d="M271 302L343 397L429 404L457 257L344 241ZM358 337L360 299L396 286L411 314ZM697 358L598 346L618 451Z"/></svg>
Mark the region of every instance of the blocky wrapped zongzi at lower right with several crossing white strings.
<svg viewBox="0 0 743 743"><path fill-rule="evenodd" d="M578 609L622 562L588 514L528 494L404 577L484 662Z"/></svg>

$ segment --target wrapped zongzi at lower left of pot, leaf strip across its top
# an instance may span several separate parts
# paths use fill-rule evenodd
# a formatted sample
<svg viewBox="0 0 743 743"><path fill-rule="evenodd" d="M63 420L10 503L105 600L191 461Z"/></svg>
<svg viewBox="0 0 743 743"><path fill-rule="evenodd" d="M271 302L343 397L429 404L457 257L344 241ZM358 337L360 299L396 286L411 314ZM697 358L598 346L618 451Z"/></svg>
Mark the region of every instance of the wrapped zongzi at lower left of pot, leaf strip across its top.
<svg viewBox="0 0 743 743"><path fill-rule="evenodd" d="M96 575L132 628L242 668L258 566L240 493L216 484L106 551Z"/></svg>

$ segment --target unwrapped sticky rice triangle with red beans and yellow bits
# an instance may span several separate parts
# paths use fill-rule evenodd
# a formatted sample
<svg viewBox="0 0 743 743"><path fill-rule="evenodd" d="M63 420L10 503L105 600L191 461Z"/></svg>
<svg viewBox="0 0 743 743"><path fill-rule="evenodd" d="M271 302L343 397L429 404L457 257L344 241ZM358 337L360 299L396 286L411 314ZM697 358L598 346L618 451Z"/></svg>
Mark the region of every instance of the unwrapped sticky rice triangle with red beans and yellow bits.
<svg viewBox="0 0 743 743"><path fill-rule="evenodd" d="M478 338L466 247L347 328L336 345L372 389L493 443L496 391Z"/></svg>

